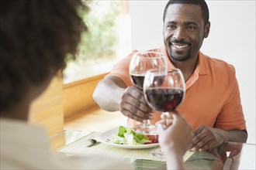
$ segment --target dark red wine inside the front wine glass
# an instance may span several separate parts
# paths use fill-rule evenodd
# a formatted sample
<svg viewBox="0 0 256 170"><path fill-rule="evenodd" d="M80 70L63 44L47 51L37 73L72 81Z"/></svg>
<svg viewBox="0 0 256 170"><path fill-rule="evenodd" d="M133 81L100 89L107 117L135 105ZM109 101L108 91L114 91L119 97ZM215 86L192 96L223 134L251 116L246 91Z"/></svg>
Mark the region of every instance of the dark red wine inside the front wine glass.
<svg viewBox="0 0 256 170"><path fill-rule="evenodd" d="M147 101L157 111L175 110L182 102L184 91L173 88L150 88L146 90Z"/></svg>

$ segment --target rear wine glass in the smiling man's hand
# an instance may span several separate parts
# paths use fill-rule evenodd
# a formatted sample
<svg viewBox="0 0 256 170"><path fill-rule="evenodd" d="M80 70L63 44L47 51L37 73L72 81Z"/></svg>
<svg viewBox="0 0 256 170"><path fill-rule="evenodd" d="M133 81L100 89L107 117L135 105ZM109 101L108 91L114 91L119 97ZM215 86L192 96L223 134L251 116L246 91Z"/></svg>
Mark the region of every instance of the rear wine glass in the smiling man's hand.
<svg viewBox="0 0 256 170"><path fill-rule="evenodd" d="M133 85L143 90L144 76L147 70L156 69L167 72L167 61L164 55L159 52L137 52L130 61L130 79ZM156 128L150 124L149 120L144 120L142 124L137 124L133 130L139 134L156 134Z"/></svg>

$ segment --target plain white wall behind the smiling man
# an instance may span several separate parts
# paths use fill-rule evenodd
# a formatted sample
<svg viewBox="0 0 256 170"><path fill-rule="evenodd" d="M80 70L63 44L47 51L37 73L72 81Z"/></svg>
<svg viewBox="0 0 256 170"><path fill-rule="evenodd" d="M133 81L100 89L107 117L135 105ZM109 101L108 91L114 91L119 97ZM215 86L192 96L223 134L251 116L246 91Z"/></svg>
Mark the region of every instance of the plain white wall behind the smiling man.
<svg viewBox="0 0 256 170"><path fill-rule="evenodd" d="M235 66L249 133L255 142L255 1L206 1L211 29L202 52ZM131 1L132 49L161 46L167 1Z"/></svg>

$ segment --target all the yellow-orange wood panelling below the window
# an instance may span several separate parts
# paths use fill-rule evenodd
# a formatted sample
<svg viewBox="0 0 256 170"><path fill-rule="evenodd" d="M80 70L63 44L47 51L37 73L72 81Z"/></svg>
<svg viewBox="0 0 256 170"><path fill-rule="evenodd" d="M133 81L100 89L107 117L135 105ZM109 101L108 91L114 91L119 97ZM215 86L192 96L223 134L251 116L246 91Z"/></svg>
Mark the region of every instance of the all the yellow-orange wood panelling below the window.
<svg viewBox="0 0 256 170"><path fill-rule="evenodd" d="M107 73L85 80L63 84L61 76L54 77L47 90L31 105L29 123L42 125L49 136L64 130L64 119L74 116L92 107L98 107L92 99L92 93ZM62 142L62 140L57 139ZM56 144L61 145L54 141Z"/></svg>

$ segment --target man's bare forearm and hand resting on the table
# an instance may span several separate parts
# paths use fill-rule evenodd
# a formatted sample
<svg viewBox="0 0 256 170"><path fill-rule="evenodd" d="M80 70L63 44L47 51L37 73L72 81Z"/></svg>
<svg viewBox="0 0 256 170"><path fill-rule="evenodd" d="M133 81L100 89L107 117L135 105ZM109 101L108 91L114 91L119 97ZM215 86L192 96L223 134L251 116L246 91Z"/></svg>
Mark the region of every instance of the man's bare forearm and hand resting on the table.
<svg viewBox="0 0 256 170"><path fill-rule="evenodd" d="M200 126L193 131L192 151L207 150L223 144L224 141L234 141L245 143L247 141L247 131L230 130L224 131L219 128Z"/></svg>

